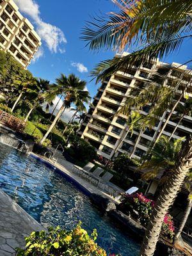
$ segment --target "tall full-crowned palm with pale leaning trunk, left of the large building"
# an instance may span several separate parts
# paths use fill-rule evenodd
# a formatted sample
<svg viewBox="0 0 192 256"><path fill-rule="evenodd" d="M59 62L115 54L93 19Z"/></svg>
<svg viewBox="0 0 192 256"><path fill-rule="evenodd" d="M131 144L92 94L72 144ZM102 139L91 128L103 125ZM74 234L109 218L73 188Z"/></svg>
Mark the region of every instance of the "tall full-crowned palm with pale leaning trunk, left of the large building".
<svg viewBox="0 0 192 256"><path fill-rule="evenodd" d="M52 131L52 128L54 125L56 125L56 122L62 115L63 111L65 111L66 108L70 108L72 102L76 104L77 99L79 99L79 95L82 95L81 97L83 97L83 95L88 95L88 92L84 91L86 82L79 79L79 77L76 77L74 74L70 74L68 77L66 77L64 74L61 74L61 76L56 79L56 83L57 84L53 84L51 86L49 92L45 93L45 99L48 102L51 102L56 97L56 95L62 94L64 101L56 117L54 118L54 121L49 127L49 130L46 132L44 138L42 138L40 141L40 144L44 142L49 133Z"/></svg>

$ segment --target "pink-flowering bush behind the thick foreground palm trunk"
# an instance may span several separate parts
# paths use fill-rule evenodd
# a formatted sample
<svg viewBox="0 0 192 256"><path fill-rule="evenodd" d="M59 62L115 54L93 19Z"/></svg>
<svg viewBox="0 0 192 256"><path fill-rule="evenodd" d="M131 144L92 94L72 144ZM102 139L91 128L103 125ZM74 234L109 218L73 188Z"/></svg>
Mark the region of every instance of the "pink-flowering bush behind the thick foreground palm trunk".
<svg viewBox="0 0 192 256"><path fill-rule="evenodd" d="M150 215L152 214L152 210L155 205L154 200L148 199L142 193L134 193L132 195L124 195L124 204L129 205L129 213L132 218L135 217L134 211L138 212L138 221L140 221L141 225L147 227ZM172 216L170 216L170 214L166 214L161 228L161 237L172 242L174 230L175 228L173 227Z"/></svg>

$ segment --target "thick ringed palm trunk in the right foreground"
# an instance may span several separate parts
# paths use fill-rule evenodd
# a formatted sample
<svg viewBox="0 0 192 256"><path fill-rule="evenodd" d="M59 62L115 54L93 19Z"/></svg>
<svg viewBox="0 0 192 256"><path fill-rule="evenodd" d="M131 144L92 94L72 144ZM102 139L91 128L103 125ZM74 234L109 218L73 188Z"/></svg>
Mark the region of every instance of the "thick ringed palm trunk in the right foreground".
<svg viewBox="0 0 192 256"><path fill-rule="evenodd" d="M145 232L143 244L141 245L140 256L154 255L164 216L166 212L168 212L169 207L173 204L190 168L192 168L191 136L184 142L178 156L178 162L175 164L175 170L172 172L170 179L164 184L157 198L154 211L152 212Z"/></svg>

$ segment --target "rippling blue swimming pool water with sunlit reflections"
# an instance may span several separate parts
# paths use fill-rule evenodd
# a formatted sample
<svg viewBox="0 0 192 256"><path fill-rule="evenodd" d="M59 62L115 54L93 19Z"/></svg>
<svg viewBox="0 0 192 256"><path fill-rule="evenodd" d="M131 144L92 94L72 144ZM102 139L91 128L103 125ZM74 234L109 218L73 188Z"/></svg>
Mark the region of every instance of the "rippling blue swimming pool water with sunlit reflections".
<svg viewBox="0 0 192 256"><path fill-rule="evenodd" d="M103 216L71 182L32 157L0 143L0 188L44 227L70 229L79 220L89 234L97 228L97 243L109 253L138 255L139 244Z"/></svg>

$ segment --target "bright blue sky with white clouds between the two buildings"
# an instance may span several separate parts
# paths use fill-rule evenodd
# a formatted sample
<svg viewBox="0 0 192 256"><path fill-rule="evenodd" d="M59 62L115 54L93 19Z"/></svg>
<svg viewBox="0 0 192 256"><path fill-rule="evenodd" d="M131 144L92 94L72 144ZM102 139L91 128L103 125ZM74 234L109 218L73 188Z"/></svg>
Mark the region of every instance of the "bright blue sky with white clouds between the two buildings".
<svg viewBox="0 0 192 256"><path fill-rule="evenodd" d="M91 52L79 39L85 20L99 12L114 10L111 0L14 0L20 12L28 17L42 37L39 58L29 66L36 77L54 82L60 73L75 73L88 82L90 94L95 95L98 85L90 81L88 72L101 60L113 57L115 52ZM189 59L191 45L184 44L179 53L164 61L184 63ZM43 52L43 53L42 53ZM78 68L79 67L79 68Z"/></svg>

